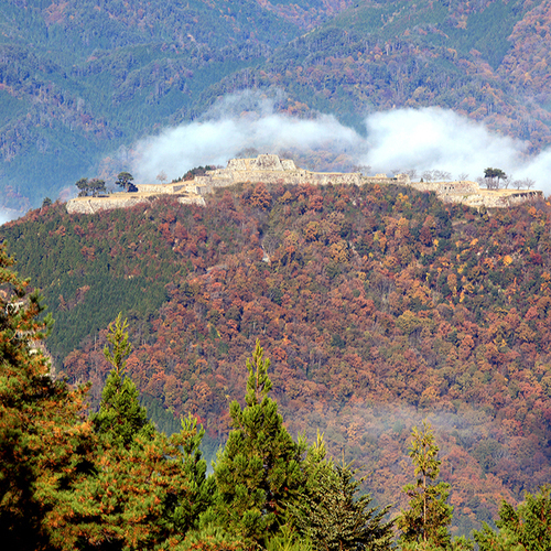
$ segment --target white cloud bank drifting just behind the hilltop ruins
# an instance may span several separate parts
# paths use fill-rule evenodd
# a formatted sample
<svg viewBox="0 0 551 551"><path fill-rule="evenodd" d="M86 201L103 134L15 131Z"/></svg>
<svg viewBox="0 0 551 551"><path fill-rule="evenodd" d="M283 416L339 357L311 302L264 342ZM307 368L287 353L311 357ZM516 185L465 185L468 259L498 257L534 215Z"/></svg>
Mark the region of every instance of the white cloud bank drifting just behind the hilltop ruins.
<svg viewBox="0 0 551 551"><path fill-rule="evenodd" d="M132 166L137 182L153 183L161 171L172 180L194 166L226 165L239 151L255 148L262 153L291 149L346 154L353 164L371 166L371 173L441 170L475 180L493 166L515 179L530 177L537 188L551 192L551 150L526 158L525 143L451 110L428 107L371 114L363 121L366 134L361 136L335 117L293 118L274 112L273 101L266 98L251 102L251 96L229 96L203 121L142 140Z"/></svg>

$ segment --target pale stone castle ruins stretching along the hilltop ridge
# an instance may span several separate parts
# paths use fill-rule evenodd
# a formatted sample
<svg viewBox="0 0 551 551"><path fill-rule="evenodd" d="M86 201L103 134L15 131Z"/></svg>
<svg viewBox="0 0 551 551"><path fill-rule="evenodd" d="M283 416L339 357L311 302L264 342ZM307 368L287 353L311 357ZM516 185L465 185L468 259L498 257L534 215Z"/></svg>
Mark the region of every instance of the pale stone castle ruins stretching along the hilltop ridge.
<svg viewBox="0 0 551 551"><path fill-rule="evenodd" d="M258 155L257 159L231 159L226 169L207 171L190 182L172 184L139 184L136 193L115 193L105 197L78 197L67 203L69 213L97 213L112 208L129 208L149 203L160 195L172 195L180 203L204 205L204 196L217 187L239 183L366 185L399 184L421 192L434 192L444 203L462 203L472 207L504 208L542 196L539 191L480 190L475 182L411 182L406 174L388 177L386 174L364 176L359 172L311 172L295 166L278 155Z"/></svg>

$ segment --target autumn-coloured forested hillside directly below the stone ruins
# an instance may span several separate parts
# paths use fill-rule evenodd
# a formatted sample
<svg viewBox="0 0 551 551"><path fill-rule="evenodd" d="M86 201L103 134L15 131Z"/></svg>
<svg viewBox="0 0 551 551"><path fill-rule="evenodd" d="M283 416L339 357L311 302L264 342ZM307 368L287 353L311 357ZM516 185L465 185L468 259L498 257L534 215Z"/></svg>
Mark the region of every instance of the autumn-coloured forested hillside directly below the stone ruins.
<svg viewBox="0 0 551 551"><path fill-rule="evenodd" d="M323 431L377 505L409 480L428 417L465 533L551 475L549 225L545 202L488 214L407 187L259 184L206 207L54 204L0 236L56 320L56 374L91 380L93 407L122 312L159 426L191 412L213 449L259 338L291 434Z"/></svg>

